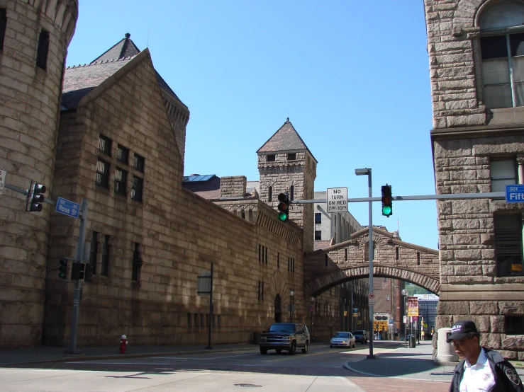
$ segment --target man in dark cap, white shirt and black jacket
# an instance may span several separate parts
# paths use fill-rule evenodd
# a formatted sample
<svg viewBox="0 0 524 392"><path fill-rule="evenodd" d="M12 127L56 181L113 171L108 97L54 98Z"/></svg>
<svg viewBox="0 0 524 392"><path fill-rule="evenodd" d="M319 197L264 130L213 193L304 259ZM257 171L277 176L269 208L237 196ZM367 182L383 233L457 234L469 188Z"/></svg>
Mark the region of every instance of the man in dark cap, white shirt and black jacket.
<svg viewBox="0 0 524 392"><path fill-rule="evenodd" d="M471 320L457 321L447 342L462 359L451 381L450 392L524 392L513 365L495 350L480 345L480 334Z"/></svg>

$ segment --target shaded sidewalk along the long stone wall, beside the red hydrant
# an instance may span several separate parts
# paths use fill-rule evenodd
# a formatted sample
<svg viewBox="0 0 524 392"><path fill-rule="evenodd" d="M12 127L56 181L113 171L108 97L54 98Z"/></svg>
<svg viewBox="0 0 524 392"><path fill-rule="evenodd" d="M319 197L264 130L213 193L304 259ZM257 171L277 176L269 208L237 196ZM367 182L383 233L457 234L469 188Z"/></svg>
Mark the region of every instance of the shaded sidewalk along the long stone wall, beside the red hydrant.
<svg viewBox="0 0 524 392"><path fill-rule="evenodd" d="M240 350L258 350L258 345L234 344L213 345L213 350L206 350L205 345L179 345L179 346L132 346L129 345L126 354L120 354L119 345L111 347L77 347L82 354L64 354L65 347L28 347L18 350L0 350L0 367L15 364L32 364L42 362L70 362L86 359L115 359L138 358L162 355L179 355L186 352L192 354L204 352L229 352Z"/></svg>

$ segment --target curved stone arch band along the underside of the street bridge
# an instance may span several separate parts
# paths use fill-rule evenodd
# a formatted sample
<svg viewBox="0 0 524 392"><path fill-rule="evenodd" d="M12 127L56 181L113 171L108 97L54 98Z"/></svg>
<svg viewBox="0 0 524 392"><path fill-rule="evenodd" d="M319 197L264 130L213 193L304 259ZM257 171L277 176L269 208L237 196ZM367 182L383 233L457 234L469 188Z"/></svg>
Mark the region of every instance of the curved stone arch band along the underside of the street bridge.
<svg viewBox="0 0 524 392"><path fill-rule="evenodd" d="M435 294L438 294L440 289L440 281L435 277L393 265L374 265L373 275L374 277L391 277L411 282ZM369 277L369 265L341 266L339 270L328 272L306 282L304 284L304 296L317 296L325 292L326 289L335 287L342 282L363 277Z"/></svg>

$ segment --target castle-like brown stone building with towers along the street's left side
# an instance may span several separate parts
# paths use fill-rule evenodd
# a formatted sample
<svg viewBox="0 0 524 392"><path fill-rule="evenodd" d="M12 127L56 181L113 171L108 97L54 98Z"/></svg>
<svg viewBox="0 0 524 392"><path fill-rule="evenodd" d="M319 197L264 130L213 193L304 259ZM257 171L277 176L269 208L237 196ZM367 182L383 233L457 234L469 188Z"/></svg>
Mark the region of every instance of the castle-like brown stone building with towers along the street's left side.
<svg viewBox="0 0 524 392"><path fill-rule="evenodd" d="M274 321L308 323L312 206L294 205L284 223L243 176L222 178L218 200L183 188L189 109L129 34L65 69L77 15L76 0L0 0L6 183L33 180L49 200L88 204L84 260L94 275L83 284L78 345L114 345L123 333L133 345L204 344L210 324L215 343L247 342ZM313 197L317 162L289 120L257 154L260 193ZM74 282L58 269L77 255L79 220L49 204L28 212L11 188L0 197L0 348L67 345ZM212 318L196 294L211 264ZM317 297L331 330L338 302L331 290Z"/></svg>

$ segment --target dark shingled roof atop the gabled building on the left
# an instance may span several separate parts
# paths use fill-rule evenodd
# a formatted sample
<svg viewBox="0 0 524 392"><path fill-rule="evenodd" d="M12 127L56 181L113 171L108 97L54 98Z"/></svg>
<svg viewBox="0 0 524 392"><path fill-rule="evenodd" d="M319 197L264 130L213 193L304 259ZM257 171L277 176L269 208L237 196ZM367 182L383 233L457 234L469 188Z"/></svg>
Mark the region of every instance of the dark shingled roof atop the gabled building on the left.
<svg viewBox="0 0 524 392"><path fill-rule="evenodd" d="M126 65L130 59L140 53L140 49L130 39L126 38L110 47L106 52L96 57L89 65L67 67L65 70L62 105L67 109L75 109L84 96L96 86ZM167 85L162 76L155 70L157 82L169 95L182 103L177 94ZM184 103L182 103L184 105ZM185 106L185 105L184 105Z"/></svg>

